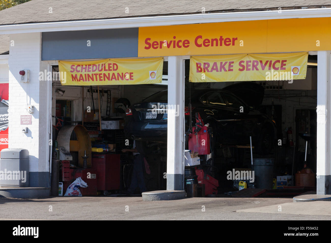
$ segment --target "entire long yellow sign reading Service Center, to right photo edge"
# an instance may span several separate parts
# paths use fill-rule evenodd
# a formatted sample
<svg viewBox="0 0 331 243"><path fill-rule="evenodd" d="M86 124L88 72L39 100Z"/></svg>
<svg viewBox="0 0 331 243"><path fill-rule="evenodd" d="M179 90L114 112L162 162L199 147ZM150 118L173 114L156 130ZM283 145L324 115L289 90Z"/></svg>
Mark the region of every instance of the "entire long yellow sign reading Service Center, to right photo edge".
<svg viewBox="0 0 331 243"><path fill-rule="evenodd" d="M322 51L330 39L329 17L140 27L138 57Z"/></svg>

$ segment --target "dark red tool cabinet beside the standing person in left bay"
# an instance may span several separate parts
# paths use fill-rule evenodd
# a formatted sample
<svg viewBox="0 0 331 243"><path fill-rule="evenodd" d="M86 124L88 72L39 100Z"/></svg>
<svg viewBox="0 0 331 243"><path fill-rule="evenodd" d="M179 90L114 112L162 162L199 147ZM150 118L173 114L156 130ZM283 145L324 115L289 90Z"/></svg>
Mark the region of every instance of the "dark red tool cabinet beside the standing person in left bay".
<svg viewBox="0 0 331 243"><path fill-rule="evenodd" d="M97 174L97 189L99 191L119 189L119 154L92 154L92 169Z"/></svg>

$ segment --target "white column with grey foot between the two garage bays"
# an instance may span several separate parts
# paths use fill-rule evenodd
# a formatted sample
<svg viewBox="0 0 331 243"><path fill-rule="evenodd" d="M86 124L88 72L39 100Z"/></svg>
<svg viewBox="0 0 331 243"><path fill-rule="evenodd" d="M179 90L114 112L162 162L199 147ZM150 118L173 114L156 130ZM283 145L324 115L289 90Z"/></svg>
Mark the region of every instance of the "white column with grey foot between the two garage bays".
<svg viewBox="0 0 331 243"><path fill-rule="evenodd" d="M167 190L184 190L185 62L168 57Z"/></svg>

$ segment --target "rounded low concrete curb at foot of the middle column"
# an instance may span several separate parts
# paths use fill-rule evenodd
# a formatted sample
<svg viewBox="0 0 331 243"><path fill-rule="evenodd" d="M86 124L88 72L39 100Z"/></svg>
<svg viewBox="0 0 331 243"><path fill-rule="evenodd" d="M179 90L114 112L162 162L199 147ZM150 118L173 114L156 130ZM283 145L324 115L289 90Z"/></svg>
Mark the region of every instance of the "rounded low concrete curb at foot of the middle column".
<svg viewBox="0 0 331 243"><path fill-rule="evenodd" d="M186 191L146 191L141 193L143 201L165 201L186 198Z"/></svg>

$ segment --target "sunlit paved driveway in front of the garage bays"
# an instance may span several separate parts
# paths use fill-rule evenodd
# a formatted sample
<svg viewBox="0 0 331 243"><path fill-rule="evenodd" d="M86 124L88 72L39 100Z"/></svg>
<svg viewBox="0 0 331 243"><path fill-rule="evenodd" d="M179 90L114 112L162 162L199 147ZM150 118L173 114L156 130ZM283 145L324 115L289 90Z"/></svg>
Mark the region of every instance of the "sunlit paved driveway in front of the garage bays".
<svg viewBox="0 0 331 243"><path fill-rule="evenodd" d="M292 198L205 197L153 202L141 197L0 198L0 205L0 220L331 220L330 202L294 203Z"/></svg>

